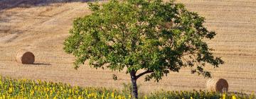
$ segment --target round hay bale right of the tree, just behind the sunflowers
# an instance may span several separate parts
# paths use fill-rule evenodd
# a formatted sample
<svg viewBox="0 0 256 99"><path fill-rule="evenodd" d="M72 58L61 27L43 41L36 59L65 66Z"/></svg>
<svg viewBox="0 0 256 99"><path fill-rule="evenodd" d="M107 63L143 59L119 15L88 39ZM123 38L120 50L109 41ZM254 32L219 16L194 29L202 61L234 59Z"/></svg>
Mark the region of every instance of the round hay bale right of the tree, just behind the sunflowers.
<svg viewBox="0 0 256 99"><path fill-rule="evenodd" d="M228 81L224 78L211 78L206 83L208 91L228 92Z"/></svg>

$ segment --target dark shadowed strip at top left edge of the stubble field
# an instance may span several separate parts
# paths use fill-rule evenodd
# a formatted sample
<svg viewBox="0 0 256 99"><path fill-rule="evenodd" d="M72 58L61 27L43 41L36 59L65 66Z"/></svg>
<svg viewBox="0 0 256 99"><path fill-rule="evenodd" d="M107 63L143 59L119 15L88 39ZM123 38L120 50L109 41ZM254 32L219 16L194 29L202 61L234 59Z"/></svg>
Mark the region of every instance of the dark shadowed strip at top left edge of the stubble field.
<svg viewBox="0 0 256 99"><path fill-rule="evenodd" d="M10 8L30 8L34 6L48 6L56 3L88 2L95 0L0 0L0 12Z"/></svg>

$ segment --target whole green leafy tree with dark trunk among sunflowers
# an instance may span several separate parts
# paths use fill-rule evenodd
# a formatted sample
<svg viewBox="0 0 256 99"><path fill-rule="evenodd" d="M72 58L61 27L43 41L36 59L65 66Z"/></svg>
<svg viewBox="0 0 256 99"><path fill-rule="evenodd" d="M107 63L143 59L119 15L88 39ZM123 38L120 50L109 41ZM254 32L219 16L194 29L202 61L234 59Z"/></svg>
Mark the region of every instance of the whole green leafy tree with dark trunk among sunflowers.
<svg viewBox="0 0 256 99"><path fill-rule="evenodd" d="M96 69L125 69L131 76L134 98L138 98L137 79L141 76L158 82L170 71L190 67L192 74L210 77L204 67L224 63L204 41L212 39L215 32L203 26L203 17L182 4L111 0L89 5L92 13L73 22L64 50L75 56L75 69L87 59Z"/></svg>

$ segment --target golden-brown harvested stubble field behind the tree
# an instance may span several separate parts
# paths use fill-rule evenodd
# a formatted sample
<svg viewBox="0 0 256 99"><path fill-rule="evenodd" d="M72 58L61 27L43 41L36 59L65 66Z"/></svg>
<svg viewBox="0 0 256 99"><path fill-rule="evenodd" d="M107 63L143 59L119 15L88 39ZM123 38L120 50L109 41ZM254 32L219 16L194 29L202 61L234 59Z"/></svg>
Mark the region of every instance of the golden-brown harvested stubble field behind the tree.
<svg viewBox="0 0 256 99"><path fill-rule="evenodd" d="M10 4L10 1L16 2ZM36 0L35 0L36 1ZM28 2L28 1L27 1ZM122 88L129 83L124 72L92 69L85 64L73 69L73 56L63 51L72 21L90 11L81 1L35 2L0 0L0 75L12 78L61 81L78 86ZM229 91L256 92L256 1L255 0L178 0L191 11L206 17L206 26L218 35L208 41L225 64L209 68L213 78L225 78ZM38 4L36 4L38 3ZM7 6L6 6L7 5ZM27 49L36 56L36 64L15 61L18 50ZM117 81L112 74L119 76ZM159 83L139 79L140 91L204 90L206 78L190 74L189 69L171 73Z"/></svg>

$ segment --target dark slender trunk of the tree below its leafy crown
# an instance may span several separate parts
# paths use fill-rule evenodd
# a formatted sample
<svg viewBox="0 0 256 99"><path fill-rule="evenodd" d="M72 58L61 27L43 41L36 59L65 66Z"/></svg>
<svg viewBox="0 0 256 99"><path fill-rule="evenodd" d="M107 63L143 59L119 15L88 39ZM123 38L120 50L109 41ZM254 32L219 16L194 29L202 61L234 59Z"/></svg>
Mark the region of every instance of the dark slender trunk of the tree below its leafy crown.
<svg viewBox="0 0 256 99"><path fill-rule="evenodd" d="M134 70L130 72L131 80L132 80L132 96L133 98L138 98L138 88L137 88L137 78Z"/></svg>

